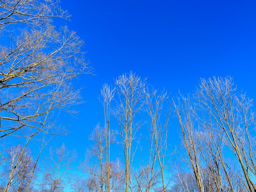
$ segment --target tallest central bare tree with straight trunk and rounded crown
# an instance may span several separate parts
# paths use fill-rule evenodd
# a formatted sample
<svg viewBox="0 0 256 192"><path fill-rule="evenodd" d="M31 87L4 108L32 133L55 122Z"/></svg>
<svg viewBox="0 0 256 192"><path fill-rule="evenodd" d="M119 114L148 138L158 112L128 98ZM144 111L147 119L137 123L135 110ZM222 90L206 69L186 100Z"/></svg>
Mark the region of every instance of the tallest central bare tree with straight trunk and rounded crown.
<svg viewBox="0 0 256 192"><path fill-rule="evenodd" d="M141 122L135 122L136 114L142 109L142 98L144 97L145 80L134 73L123 74L115 80L116 93L118 97L117 106L113 113L120 127L120 136L123 142L125 157L125 191L129 190L129 177L131 157L132 157L132 141L136 137L136 132L142 126Z"/></svg>

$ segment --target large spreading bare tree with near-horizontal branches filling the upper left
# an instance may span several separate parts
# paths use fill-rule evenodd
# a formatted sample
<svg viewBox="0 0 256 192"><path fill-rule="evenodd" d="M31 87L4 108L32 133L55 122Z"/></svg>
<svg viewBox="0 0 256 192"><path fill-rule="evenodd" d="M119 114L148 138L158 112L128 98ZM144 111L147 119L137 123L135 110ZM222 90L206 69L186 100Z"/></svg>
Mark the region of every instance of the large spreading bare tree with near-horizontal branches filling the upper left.
<svg viewBox="0 0 256 192"><path fill-rule="evenodd" d="M72 80L91 73L83 40L52 25L54 17L69 19L58 0L6 0L0 8L0 137L29 137L38 129L54 134L45 117L70 112L80 99Z"/></svg>

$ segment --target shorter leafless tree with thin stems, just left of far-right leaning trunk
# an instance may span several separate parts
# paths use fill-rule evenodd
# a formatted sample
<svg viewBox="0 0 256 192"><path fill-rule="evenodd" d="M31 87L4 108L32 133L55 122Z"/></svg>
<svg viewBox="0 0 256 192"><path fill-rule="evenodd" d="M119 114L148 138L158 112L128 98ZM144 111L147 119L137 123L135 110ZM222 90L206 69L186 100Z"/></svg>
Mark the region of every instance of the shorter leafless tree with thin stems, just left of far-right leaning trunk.
<svg viewBox="0 0 256 192"><path fill-rule="evenodd" d="M206 169L207 174L212 177L212 181L217 188L215 191L228 190L233 192L234 188L231 183L231 174L228 171L228 162L224 156L224 153L228 153L228 151L224 150L225 145L218 136L223 134L223 131L216 129L216 125L211 121L203 122L204 123L201 123L202 130L195 133L198 151L205 164L203 172L204 169ZM216 134L217 132L218 134Z"/></svg>

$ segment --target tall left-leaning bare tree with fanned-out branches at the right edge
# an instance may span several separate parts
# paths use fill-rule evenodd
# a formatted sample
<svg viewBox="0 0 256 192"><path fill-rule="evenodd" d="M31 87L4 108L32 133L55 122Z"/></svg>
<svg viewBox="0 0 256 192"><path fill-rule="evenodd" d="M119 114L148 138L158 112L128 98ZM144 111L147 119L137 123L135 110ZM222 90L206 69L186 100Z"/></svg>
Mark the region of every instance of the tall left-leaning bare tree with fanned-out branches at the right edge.
<svg viewBox="0 0 256 192"><path fill-rule="evenodd" d="M252 100L246 98L245 93L236 93L231 77L201 79L194 98L196 104L216 122L216 128L223 130L224 134L218 136L236 156L248 188L253 192L256 190L256 162L252 148L256 142L255 114L250 110Z"/></svg>

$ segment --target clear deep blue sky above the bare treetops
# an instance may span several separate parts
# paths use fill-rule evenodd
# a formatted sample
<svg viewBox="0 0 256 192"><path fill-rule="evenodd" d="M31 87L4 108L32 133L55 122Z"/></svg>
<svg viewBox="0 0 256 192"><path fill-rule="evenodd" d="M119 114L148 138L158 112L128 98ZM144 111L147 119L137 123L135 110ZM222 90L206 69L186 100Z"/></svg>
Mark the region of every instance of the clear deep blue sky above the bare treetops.
<svg viewBox="0 0 256 192"><path fill-rule="evenodd" d="M255 7L255 1L63 1L72 15L67 25L85 40L96 76L77 83L87 86L87 102L77 107L70 134L56 141L82 158L91 130L103 125L102 84L131 70L171 97L193 91L200 78L227 75L255 97Z"/></svg>

